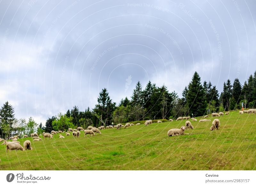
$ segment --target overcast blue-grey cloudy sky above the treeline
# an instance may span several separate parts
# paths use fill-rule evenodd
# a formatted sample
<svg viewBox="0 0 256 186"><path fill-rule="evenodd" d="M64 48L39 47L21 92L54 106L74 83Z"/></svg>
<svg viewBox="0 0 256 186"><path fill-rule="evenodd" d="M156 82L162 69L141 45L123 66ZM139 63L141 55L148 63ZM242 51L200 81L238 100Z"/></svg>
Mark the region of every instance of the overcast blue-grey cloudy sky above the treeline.
<svg viewBox="0 0 256 186"><path fill-rule="evenodd" d="M137 4L134 4L137 2ZM197 71L219 91L256 70L255 1L0 1L0 105L36 122L102 88L117 104L135 84L181 97Z"/></svg>

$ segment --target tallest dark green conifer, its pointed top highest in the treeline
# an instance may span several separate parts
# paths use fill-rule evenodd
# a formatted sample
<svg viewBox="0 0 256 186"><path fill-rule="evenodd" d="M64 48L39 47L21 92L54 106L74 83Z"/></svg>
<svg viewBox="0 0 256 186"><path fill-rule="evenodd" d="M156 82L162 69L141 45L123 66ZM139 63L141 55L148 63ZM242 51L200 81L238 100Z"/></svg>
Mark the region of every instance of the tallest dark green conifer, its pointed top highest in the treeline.
<svg viewBox="0 0 256 186"><path fill-rule="evenodd" d="M195 72L192 81L188 85L187 103L189 114L193 113L194 116L203 116L206 112L206 93L197 72Z"/></svg>

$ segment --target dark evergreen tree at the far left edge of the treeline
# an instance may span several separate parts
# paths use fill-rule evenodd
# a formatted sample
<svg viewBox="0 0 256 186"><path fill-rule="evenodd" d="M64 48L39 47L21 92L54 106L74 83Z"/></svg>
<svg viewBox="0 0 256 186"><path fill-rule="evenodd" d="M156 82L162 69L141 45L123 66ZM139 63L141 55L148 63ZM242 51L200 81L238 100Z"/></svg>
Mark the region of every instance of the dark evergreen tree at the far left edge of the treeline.
<svg viewBox="0 0 256 186"><path fill-rule="evenodd" d="M3 138L10 139L14 119L14 109L12 105L6 101L0 109L0 135Z"/></svg>

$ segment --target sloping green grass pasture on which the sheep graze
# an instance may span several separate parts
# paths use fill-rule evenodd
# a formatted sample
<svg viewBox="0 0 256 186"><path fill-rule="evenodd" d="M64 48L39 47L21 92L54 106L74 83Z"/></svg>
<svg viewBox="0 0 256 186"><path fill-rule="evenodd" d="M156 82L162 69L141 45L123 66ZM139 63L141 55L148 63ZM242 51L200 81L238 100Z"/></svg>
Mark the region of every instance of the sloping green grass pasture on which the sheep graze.
<svg viewBox="0 0 256 186"><path fill-rule="evenodd" d="M0 145L0 170L256 170L256 115L235 111L218 119L218 131L210 131L212 121L196 121L193 130L185 130L190 135L182 136L167 137L167 131L184 120L75 139L29 138L33 151L6 153ZM23 140L28 138L18 141L23 145Z"/></svg>

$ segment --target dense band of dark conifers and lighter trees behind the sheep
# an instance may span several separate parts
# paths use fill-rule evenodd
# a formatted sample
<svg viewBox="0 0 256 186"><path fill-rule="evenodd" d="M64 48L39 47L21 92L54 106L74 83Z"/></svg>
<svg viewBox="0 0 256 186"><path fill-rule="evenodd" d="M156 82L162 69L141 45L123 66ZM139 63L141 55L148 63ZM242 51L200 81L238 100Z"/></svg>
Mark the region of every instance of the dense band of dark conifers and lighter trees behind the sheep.
<svg viewBox="0 0 256 186"><path fill-rule="evenodd" d="M67 130L68 128L92 125L112 125L128 121L148 119L175 119L180 116L203 116L208 110L223 112L228 110L254 108L256 101L256 71L249 76L242 86L239 79L232 83L229 79L223 84L219 94L216 86L204 81L197 72L182 92L179 98L175 91L169 92L165 85L157 87L148 81L142 89L140 81L133 90L131 99L121 99L117 105L112 101L106 88L102 89L97 99L98 104L93 109L79 111L77 106L66 113L58 113L46 120L45 125L37 124L32 117L16 119L14 108L5 102L0 109L0 137L9 139L12 135L30 135L33 132L42 133L51 130Z"/></svg>

